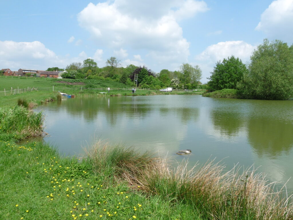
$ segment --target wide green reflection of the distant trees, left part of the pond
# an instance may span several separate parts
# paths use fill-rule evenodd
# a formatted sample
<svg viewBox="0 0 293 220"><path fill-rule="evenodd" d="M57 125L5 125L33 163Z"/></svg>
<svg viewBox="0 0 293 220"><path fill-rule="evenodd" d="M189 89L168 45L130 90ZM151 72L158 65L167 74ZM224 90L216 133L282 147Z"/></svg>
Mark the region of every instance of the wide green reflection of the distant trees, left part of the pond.
<svg viewBox="0 0 293 220"><path fill-rule="evenodd" d="M105 115L107 121L115 124L121 114L127 117L145 117L149 114L149 104L123 103L123 97L81 98L63 102L67 113L72 116L83 116L86 121L92 121L99 114Z"/></svg>

